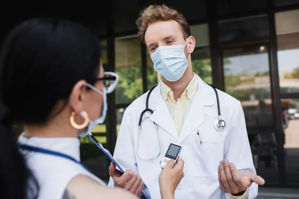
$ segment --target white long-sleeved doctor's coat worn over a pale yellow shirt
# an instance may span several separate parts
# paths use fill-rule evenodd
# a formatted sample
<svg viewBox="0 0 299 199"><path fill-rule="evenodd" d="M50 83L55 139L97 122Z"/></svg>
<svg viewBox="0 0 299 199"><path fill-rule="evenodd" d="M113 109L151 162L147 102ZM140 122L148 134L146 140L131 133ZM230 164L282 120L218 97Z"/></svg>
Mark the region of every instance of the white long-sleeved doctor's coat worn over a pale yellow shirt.
<svg viewBox="0 0 299 199"><path fill-rule="evenodd" d="M154 112L144 115L144 118L149 118L142 124L139 150L142 158L158 154L158 139L152 123L155 122L161 140L161 153L153 160L144 161L137 156L138 123L146 108L148 93L135 100L124 113L114 158L124 170L129 169L141 176L151 199L161 198L159 161L163 159L170 142L182 145L180 157L185 162L185 175L175 191L175 199L230 199L220 190L218 182L218 166L223 158L233 162L239 171L256 174L240 101L218 90L221 118L225 120L226 127L223 131L217 131L214 128L214 121L218 118L215 92L199 77L198 82L198 91L179 135L161 96L160 84L152 91L149 108ZM114 186L111 177L108 186ZM256 198L257 194L258 185L253 183L249 187L249 199Z"/></svg>

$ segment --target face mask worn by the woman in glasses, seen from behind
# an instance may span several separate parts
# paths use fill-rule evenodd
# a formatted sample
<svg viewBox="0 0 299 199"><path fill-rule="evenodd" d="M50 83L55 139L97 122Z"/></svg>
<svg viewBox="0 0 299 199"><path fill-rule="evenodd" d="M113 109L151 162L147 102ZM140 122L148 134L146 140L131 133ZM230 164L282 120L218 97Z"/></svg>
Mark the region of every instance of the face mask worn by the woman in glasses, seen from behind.
<svg viewBox="0 0 299 199"><path fill-rule="evenodd" d="M96 87L92 86L91 84L87 83L86 86L88 88L94 90L98 94L103 96L103 108L102 108L102 114L98 119L96 119L95 121L92 121L92 120L89 119L89 125L88 125L88 128L87 128L87 131L86 132L81 132L79 134L80 137L86 137L88 135L88 133L91 132L93 129L95 129L95 127L97 125L104 123L105 118L106 118L106 114L107 114L107 93L106 93L105 87L103 88L103 92L101 92ZM83 115L81 115L81 116L84 118Z"/></svg>

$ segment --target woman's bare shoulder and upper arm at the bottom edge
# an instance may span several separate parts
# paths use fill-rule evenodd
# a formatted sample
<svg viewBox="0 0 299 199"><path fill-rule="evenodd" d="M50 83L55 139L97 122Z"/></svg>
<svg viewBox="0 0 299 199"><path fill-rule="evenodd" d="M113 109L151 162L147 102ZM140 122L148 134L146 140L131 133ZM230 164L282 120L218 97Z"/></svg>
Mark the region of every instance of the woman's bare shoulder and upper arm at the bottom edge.
<svg viewBox="0 0 299 199"><path fill-rule="evenodd" d="M76 176L67 186L63 199L137 199L130 192L102 186L88 176Z"/></svg>

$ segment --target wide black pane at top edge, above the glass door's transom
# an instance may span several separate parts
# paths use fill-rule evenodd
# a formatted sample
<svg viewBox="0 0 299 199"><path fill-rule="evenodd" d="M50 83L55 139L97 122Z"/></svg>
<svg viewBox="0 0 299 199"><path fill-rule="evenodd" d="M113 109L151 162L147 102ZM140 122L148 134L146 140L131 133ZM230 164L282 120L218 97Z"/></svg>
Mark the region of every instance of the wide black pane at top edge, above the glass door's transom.
<svg viewBox="0 0 299 199"><path fill-rule="evenodd" d="M232 15L267 8L267 0L217 0L217 14Z"/></svg>

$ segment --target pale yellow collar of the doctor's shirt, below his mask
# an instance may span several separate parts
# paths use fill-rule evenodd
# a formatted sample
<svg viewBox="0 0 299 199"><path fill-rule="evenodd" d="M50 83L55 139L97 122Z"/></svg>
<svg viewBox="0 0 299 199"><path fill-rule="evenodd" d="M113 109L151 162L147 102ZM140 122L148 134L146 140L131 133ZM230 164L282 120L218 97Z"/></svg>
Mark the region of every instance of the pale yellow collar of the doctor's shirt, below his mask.
<svg viewBox="0 0 299 199"><path fill-rule="evenodd" d="M171 89L162 80L161 80L160 90L161 90L161 95L165 101L167 100L168 97L170 97L170 99L173 98L173 93ZM187 95L187 98L191 100L197 90L198 90L198 79L195 73L193 73L193 78L188 84L185 91L182 93L181 98Z"/></svg>

